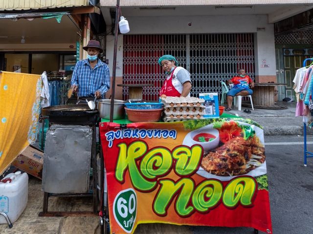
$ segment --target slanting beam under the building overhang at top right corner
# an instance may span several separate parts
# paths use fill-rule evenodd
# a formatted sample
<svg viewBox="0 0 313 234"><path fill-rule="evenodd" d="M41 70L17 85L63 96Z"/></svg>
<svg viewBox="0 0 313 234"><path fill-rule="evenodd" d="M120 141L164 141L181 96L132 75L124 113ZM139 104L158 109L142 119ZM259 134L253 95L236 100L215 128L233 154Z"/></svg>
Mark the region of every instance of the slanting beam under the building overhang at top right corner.
<svg viewBox="0 0 313 234"><path fill-rule="evenodd" d="M285 20L291 16L297 15L312 8L313 4L290 5L288 7L283 7L278 11L268 14L268 23L275 23Z"/></svg>

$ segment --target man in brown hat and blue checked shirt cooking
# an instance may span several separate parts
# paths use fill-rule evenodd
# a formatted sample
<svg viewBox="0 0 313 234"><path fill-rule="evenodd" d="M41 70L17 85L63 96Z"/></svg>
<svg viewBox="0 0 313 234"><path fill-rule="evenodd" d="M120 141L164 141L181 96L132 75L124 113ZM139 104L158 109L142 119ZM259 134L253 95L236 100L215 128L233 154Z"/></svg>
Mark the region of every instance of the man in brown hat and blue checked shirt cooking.
<svg viewBox="0 0 313 234"><path fill-rule="evenodd" d="M109 67L98 58L103 51L100 43L90 40L83 49L88 53L87 59L77 62L70 82L73 92L77 92L77 103L86 103L86 99L95 97L103 99L110 88Z"/></svg>

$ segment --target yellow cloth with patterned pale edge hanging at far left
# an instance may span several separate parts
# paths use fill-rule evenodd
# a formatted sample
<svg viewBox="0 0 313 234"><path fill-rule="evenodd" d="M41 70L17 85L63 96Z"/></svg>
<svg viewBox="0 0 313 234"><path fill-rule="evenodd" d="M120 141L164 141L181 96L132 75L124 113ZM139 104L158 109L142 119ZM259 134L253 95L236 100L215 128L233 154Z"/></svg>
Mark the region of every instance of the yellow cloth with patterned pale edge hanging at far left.
<svg viewBox="0 0 313 234"><path fill-rule="evenodd" d="M40 75L0 73L0 174L36 140Z"/></svg>

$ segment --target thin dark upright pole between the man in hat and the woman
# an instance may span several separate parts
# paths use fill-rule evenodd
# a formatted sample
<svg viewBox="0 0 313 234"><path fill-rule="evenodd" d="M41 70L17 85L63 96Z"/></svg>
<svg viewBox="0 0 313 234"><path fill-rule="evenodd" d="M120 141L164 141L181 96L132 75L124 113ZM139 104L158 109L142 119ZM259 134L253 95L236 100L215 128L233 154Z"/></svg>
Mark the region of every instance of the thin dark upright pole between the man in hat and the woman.
<svg viewBox="0 0 313 234"><path fill-rule="evenodd" d="M117 51L118 19L119 19L119 0L116 0L115 9L116 10L115 10L115 27L114 27L114 50L113 50L112 96L111 96L111 108L110 108L110 122L113 122L113 111L114 111L116 51Z"/></svg>

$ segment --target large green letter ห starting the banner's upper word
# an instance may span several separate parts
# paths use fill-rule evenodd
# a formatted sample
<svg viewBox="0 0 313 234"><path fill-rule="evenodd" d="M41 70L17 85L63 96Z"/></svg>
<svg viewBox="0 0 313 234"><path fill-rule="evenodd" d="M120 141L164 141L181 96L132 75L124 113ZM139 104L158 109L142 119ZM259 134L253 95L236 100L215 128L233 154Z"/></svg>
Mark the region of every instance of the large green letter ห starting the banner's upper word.
<svg viewBox="0 0 313 234"><path fill-rule="evenodd" d="M140 158L147 151L147 145L141 141L136 141L128 147L125 143L117 145L119 154L115 170L115 177L118 181L124 181L124 174L129 170L131 181L134 188L141 191L152 190L156 186L156 182L146 180L139 172L136 159Z"/></svg>

